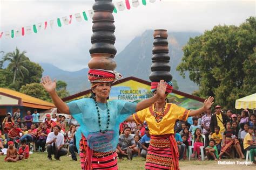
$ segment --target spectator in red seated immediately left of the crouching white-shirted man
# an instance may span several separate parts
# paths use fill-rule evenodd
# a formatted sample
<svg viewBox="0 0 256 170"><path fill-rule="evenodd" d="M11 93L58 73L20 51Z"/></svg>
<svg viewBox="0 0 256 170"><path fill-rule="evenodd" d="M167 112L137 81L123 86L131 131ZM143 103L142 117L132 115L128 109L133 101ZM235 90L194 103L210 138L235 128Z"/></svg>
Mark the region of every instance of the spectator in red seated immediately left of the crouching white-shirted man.
<svg viewBox="0 0 256 170"><path fill-rule="evenodd" d="M40 125L42 124L42 122L40 123ZM39 125L39 126L40 126ZM42 130L39 130L37 133L37 141L36 141L36 147L39 148L39 146L42 148L42 152L45 151L45 144L46 144L46 139L48 134L50 133L50 130L47 129L47 125L43 124L43 128Z"/></svg>

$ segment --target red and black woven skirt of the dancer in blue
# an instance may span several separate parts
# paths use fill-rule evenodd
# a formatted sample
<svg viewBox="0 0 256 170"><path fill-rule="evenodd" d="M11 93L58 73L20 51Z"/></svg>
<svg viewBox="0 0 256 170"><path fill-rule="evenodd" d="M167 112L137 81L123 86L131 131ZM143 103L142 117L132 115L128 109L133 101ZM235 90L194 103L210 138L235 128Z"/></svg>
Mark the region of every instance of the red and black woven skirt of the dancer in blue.
<svg viewBox="0 0 256 170"><path fill-rule="evenodd" d="M96 152L87 146L87 140L82 134L79 143L79 156L82 169L110 169L116 170L117 153L114 152Z"/></svg>

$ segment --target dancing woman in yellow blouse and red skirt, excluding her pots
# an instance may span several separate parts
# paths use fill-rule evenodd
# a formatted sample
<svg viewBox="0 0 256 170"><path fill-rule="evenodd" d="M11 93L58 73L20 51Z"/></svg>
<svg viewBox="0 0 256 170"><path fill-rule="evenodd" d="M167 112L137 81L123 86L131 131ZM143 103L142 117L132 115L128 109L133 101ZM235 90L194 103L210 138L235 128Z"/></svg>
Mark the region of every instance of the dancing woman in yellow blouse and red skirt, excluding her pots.
<svg viewBox="0 0 256 170"><path fill-rule="evenodd" d="M147 148L145 169L179 169L179 150L175 140L174 125L177 119L186 121L189 116L196 116L206 111L213 104L213 97L208 97L204 107L198 110L187 110L176 104L166 102L166 97L172 91L173 84L166 83L165 95L160 97L149 108L136 112L126 121L136 121L137 124L147 122L151 139ZM157 82L151 83L151 91L157 95Z"/></svg>

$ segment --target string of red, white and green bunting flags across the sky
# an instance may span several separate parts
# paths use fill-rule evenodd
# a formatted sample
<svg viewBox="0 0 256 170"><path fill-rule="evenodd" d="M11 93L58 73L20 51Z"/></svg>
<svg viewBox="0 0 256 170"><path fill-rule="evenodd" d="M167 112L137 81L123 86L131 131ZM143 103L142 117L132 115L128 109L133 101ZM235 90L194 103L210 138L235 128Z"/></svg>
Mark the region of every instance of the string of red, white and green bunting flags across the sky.
<svg viewBox="0 0 256 170"><path fill-rule="evenodd" d="M160 0L161 1L161 0ZM131 6L133 8L137 8L140 3L142 5L146 5L147 2L154 3L156 0L123 0L120 2L117 2L114 4L114 13L117 13L118 11L124 11L125 9L130 10ZM21 29L14 29L11 31L5 31L0 32L0 39L2 37L5 38L15 38L15 37L24 37L26 34L32 34L32 33L38 33L41 30L48 29L49 25L51 29L55 25L55 22L57 20L57 26L62 27L63 25L69 25L73 22L73 18L76 19L77 22L82 22L82 20L87 21L89 18L92 18L93 16L93 10L87 10L87 13L85 11L82 12L82 15L80 13L75 13L74 15L69 15L65 17L59 17L57 19L52 19L49 21L45 21L38 24L33 24L29 26L24 26ZM88 15L88 16L87 16Z"/></svg>

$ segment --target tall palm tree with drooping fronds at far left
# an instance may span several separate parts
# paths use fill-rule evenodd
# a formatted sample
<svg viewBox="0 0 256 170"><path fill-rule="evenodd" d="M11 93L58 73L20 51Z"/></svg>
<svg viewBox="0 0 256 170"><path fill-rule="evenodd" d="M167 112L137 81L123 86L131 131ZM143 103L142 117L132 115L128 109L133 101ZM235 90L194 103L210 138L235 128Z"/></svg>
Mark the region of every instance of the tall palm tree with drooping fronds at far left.
<svg viewBox="0 0 256 170"><path fill-rule="evenodd" d="M10 61L7 69L11 70L14 74L14 79L12 83L15 83L17 73L24 77L25 74L29 74L29 70L24 67L24 63L28 60L25 56L25 51L22 53L19 52L19 49L16 47L14 52L9 52L4 56L3 61Z"/></svg>

